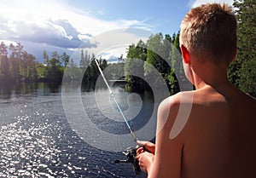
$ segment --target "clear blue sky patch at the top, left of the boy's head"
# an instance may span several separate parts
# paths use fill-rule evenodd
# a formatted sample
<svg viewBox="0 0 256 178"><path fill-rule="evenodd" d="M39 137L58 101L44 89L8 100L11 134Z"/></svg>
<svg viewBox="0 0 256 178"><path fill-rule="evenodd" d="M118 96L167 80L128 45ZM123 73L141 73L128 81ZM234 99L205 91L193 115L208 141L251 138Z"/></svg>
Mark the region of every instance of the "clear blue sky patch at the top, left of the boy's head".
<svg viewBox="0 0 256 178"><path fill-rule="evenodd" d="M141 0L85 0L76 1L84 11L102 20L137 20L153 32L173 33L178 31L183 15L189 11L189 1L141 1Z"/></svg>

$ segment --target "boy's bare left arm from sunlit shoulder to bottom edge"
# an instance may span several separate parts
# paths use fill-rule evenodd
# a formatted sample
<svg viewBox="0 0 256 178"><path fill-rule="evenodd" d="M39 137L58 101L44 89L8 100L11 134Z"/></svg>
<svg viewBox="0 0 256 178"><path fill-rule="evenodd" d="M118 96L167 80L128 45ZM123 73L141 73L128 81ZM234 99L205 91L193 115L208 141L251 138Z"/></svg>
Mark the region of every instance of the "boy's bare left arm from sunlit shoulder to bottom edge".
<svg viewBox="0 0 256 178"><path fill-rule="evenodd" d="M177 95L164 100L159 107L154 162L148 170L148 177L181 177L183 153L182 137L170 139L172 125L179 109Z"/></svg>

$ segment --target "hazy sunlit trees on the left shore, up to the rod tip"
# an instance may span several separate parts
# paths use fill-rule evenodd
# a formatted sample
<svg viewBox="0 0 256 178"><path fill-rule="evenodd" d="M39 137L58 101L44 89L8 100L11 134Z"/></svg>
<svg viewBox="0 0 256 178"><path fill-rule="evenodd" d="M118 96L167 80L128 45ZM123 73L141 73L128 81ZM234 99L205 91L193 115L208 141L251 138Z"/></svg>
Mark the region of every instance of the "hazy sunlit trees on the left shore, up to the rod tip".
<svg viewBox="0 0 256 178"><path fill-rule="evenodd" d="M38 62L36 58L28 54L24 47L17 43L10 43L9 46L3 42L0 44L0 83L20 83L20 82L57 82L61 83L64 71L67 67L73 67L67 78L76 79L79 75L84 75L84 80L96 81L99 75L96 64L93 61L95 55L91 56L81 49L79 65L64 52L59 55L54 51L51 56L47 51L43 51L44 62ZM107 66L106 60L100 60L102 68ZM83 72L83 68L87 70Z"/></svg>

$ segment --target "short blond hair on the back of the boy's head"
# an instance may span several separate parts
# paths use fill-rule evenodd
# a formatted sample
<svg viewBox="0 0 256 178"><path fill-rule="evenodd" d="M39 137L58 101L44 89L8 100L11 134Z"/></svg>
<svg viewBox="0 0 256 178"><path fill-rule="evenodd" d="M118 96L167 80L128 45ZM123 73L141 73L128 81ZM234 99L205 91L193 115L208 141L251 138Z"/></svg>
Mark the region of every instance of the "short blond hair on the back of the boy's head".
<svg viewBox="0 0 256 178"><path fill-rule="evenodd" d="M236 17L227 4L207 3L191 9L181 23L180 44L199 59L228 62L236 54Z"/></svg>

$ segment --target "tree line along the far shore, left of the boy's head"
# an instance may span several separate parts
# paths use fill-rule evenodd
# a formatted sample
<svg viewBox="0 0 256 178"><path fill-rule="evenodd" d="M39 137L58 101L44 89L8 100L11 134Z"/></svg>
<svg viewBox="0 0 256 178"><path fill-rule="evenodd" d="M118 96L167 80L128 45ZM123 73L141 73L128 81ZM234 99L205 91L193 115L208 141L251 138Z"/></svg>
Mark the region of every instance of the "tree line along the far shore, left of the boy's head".
<svg viewBox="0 0 256 178"><path fill-rule="evenodd" d="M175 66L178 72L183 72L180 68L181 60L176 59L179 33L166 35L161 33L149 37L147 43L139 41L137 45L131 44L127 51L127 59L123 55L119 57L118 63L108 64L107 60L99 59L100 66L108 79L119 79L125 76L125 80L132 90L143 91L150 87L145 79L150 79L152 83L159 83L159 78L151 72L153 66L168 83L169 89L173 92L178 91L177 78L174 73ZM172 43L174 45L172 45ZM174 50L175 49L175 50ZM88 51L81 49L79 64L64 52L59 55L54 51L50 56L44 50L42 57L44 62L38 62L33 55L24 50L24 47L17 43L0 45L0 82L19 83L19 82L60 82L65 73L66 80L76 80L83 76L83 82L96 83L100 72L96 66L96 56L89 55ZM135 60L143 60L145 63L142 68L138 68ZM166 62L172 60L172 65ZM150 64L151 66L148 66ZM173 67L172 67L173 66ZM176 67L177 68L177 67ZM67 69L67 70L66 70ZM105 69L105 70L104 70ZM66 70L66 71L65 71ZM141 78L133 74L140 70ZM129 71L129 72L128 72ZM129 75L128 75L129 73ZM145 77L145 78L144 78ZM162 82L162 81L161 81Z"/></svg>

